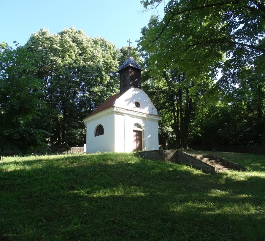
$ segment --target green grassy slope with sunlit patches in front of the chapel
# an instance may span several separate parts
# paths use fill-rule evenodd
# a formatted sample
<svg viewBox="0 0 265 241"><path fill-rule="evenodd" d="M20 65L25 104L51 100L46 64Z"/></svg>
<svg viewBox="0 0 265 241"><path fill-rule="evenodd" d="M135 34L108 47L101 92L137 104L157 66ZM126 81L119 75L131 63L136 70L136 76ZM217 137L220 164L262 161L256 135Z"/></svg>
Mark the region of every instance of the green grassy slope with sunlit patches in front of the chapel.
<svg viewBox="0 0 265 241"><path fill-rule="evenodd" d="M5 157L0 232L9 240L264 240L265 156L215 154L250 172L210 175L124 153Z"/></svg>

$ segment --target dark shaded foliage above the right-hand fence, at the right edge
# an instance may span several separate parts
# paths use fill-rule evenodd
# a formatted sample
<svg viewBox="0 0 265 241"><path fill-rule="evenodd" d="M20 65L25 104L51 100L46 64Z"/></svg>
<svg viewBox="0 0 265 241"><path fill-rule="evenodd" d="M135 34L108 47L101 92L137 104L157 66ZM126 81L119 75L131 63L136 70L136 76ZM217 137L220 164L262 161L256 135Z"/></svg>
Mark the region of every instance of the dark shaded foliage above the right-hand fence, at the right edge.
<svg viewBox="0 0 265 241"><path fill-rule="evenodd" d="M201 102L193 123L191 143L205 145L265 145L264 74L249 74L230 101Z"/></svg>

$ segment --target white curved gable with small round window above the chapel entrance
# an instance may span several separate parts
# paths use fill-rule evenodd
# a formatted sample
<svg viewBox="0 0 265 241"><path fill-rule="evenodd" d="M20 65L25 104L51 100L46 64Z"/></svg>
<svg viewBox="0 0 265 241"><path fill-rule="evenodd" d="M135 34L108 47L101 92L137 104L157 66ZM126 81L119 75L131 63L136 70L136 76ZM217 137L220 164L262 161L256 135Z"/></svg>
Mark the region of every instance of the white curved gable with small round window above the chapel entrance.
<svg viewBox="0 0 265 241"><path fill-rule="evenodd" d="M140 107L135 105L140 103ZM148 95L139 88L131 88L114 101L114 105L120 108L157 115L157 110Z"/></svg>

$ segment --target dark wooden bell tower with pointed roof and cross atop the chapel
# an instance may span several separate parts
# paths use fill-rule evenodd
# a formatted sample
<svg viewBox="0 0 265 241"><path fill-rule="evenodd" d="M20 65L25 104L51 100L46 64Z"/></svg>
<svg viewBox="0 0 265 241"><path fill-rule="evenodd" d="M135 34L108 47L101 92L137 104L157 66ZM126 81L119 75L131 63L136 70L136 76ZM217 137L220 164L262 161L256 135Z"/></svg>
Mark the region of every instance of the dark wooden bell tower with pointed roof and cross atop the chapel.
<svg viewBox="0 0 265 241"><path fill-rule="evenodd" d="M135 60L130 57L131 55L131 46L130 39L129 41L129 55L124 61L123 65L118 69L120 74L120 94L123 94L130 88L139 88L141 89L141 71L143 69L135 62Z"/></svg>

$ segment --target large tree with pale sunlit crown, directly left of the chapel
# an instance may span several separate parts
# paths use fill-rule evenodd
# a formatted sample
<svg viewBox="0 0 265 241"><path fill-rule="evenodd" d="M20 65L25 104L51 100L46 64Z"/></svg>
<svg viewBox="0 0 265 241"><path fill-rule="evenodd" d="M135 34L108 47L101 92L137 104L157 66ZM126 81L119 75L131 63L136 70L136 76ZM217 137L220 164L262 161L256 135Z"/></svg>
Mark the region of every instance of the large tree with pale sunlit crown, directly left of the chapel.
<svg viewBox="0 0 265 241"><path fill-rule="evenodd" d="M41 29L30 36L25 49L39 56L34 76L42 79L47 103L42 120L51 133L49 144L82 145L82 119L118 90L115 45L75 28L57 34Z"/></svg>

